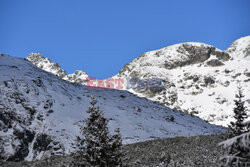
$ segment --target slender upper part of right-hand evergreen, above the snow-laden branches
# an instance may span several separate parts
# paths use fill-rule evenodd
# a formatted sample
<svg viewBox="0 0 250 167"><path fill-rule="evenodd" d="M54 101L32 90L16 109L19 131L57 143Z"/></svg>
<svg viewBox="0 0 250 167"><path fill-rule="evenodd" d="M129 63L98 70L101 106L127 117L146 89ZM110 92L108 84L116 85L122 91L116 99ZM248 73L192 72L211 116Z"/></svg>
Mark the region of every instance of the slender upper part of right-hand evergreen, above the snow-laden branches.
<svg viewBox="0 0 250 167"><path fill-rule="evenodd" d="M247 118L246 107L244 106L244 95L242 93L242 87L238 87L238 93L236 94L236 100L234 100L234 119L235 122L231 122L229 128L232 130L233 135L240 135L246 132L246 126L243 124Z"/></svg>

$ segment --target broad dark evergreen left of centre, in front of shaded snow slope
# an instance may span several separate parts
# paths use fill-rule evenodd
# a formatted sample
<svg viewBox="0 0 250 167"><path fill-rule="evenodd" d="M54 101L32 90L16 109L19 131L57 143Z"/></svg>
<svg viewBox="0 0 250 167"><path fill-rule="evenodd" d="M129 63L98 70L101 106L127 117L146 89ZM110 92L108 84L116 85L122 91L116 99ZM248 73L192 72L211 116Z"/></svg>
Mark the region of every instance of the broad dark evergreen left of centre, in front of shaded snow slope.
<svg viewBox="0 0 250 167"><path fill-rule="evenodd" d="M109 135L108 120L99 107L97 100L92 97L88 108L89 118L86 126L81 126L83 138L78 137L78 152L72 166L77 167L121 167L122 140L119 130L115 135Z"/></svg>

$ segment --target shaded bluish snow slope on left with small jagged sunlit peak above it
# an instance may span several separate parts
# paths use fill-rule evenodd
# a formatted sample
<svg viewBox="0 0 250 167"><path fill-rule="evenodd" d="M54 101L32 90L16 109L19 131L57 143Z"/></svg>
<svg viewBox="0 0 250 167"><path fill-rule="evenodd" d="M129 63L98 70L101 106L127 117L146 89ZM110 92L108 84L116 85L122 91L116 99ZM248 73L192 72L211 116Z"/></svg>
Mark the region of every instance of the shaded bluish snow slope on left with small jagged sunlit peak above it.
<svg viewBox="0 0 250 167"><path fill-rule="evenodd" d="M65 74L60 66L36 57L29 60L58 76ZM0 54L0 158L33 160L74 151L92 95L109 119L110 131L121 129L124 143L225 131L127 91L87 89L26 59Z"/></svg>

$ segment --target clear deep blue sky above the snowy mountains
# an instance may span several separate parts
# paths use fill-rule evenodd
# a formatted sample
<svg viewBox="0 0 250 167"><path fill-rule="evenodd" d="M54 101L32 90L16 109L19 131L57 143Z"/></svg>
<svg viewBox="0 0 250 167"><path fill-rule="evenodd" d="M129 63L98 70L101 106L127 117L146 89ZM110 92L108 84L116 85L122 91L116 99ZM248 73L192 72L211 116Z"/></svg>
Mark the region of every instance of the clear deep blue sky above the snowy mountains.
<svg viewBox="0 0 250 167"><path fill-rule="evenodd" d="M68 73L107 78L180 42L226 49L250 35L249 0L0 0L0 52L40 52Z"/></svg>

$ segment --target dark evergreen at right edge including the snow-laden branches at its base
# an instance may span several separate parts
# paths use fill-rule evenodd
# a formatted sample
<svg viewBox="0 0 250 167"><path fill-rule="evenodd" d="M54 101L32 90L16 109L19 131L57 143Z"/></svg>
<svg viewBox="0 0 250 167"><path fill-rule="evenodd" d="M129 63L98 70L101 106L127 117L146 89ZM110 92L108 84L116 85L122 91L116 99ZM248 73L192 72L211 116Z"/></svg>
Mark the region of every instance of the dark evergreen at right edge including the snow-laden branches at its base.
<svg viewBox="0 0 250 167"><path fill-rule="evenodd" d="M223 166L247 167L250 166L250 122L244 122L247 118L247 108L244 106L242 88L238 87L234 108L235 122L231 122L232 130L230 138L220 143L227 149L227 155L221 158Z"/></svg>

